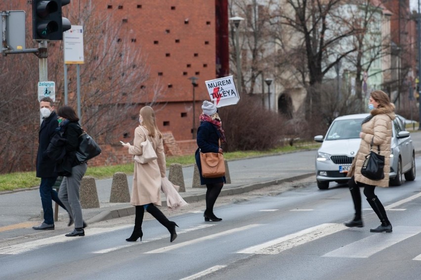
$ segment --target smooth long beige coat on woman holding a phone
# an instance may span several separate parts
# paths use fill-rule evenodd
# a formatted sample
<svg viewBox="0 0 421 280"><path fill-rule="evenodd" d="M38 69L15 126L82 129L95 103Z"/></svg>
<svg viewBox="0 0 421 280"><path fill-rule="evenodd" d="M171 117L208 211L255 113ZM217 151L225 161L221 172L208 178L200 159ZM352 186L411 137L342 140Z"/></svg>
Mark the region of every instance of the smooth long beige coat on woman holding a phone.
<svg viewBox="0 0 421 280"><path fill-rule="evenodd" d="M157 133L152 138L149 136L146 127L143 127L143 129L139 125L134 130L133 145L128 148L128 153L131 155L141 155L142 148L140 143L145 141L146 135L148 135L147 137L152 142L158 158L145 164L134 162L130 204L138 206L153 203L161 206L161 177L165 177L166 175L163 139L160 139Z"/></svg>

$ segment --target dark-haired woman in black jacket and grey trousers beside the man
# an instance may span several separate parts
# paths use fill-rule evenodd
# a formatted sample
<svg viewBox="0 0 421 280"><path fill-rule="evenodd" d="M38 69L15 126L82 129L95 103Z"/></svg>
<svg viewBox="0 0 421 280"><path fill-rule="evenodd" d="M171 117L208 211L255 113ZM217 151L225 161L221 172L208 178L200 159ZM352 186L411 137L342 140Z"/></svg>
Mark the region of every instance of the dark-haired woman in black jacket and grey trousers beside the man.
<svg viewBox="0 0 421 280"><path fill-rule="evenodd" d="M57 162L57 174L64 176L58 191L58 197L69 212L72 223L75 223L75 229L66 234L66 236L84 236L84 223L82 217L82 207L79 198L82 177L84 176L87 165L76 159L76 151L79 148L79 137L83 130L78 121L79 117L75 110L70 106L62 106L57 111L58 115L58 132L61 137L66 139L66 154L62 161Z"/></svg>

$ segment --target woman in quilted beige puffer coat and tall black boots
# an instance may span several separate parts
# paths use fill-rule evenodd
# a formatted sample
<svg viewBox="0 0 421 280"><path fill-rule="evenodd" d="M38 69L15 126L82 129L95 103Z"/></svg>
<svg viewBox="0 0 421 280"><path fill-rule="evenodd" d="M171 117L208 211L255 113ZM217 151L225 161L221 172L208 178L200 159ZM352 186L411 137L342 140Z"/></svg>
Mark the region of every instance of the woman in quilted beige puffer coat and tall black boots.
<svg viewBox="0 0 421 280"><path fill-rule="evenodd" d="M355 156L351 170L348 173L348 185L351 191L352 200L354 202L355 217L353 220L345 222L347 227L363 227L361 218L361 194L360 187L364 187L364 195L368 203L379 216L381 225L377 228L370 229L370 232L392 232L392 225L387 218L386 211L375 195L376 186L389 186L390 172L390 143L392 139L392 120L395 119L395 106L390 103L387 94L380 90L376 90L370 94L369 109L370 116L362 122L362 130L360 132L361 144L357 155ZM370 144L373 140L373 151L384 156L384 178L381 180L370 180L361 174L366 156L370 153Z"/></svg>

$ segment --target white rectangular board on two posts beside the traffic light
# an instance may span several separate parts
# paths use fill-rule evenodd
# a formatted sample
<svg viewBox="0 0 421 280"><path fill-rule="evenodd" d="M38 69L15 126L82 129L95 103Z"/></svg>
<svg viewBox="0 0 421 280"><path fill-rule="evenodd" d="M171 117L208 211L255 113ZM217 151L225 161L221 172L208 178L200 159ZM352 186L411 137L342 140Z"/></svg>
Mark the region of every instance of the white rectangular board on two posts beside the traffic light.
<svg viewBox="0 0 421 280"><path fill-rule="evenodd" d="M84 64L84 27L72 25L72 28L63 33L64 63Z"/></svg>

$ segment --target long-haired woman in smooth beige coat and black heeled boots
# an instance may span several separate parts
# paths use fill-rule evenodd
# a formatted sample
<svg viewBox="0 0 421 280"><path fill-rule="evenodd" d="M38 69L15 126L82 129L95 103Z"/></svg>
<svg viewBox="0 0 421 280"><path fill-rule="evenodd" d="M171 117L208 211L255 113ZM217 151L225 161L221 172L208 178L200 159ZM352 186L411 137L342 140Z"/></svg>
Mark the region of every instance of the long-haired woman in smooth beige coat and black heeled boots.
<svg viewBox="0 0 421 280"><path fill-rule="evenodd" d="M134 162L133 187L130 204L136 207L133 233L126 241L134 242L140 238L142 241L142 222L144 211L147 210L154 218L164 225L171 234L170 242L177 237L175 222L168 218L155 205L161 206L161 177L166 176L166 161L162 134L155 123L155 112L150 106L145 106L139 112L140 125L134 130L133 145L124 143L131 155L141 155L141 142L150 140L157 154L157 159L141 164ZM178 226L177 226L178 227Z"/></svg>

